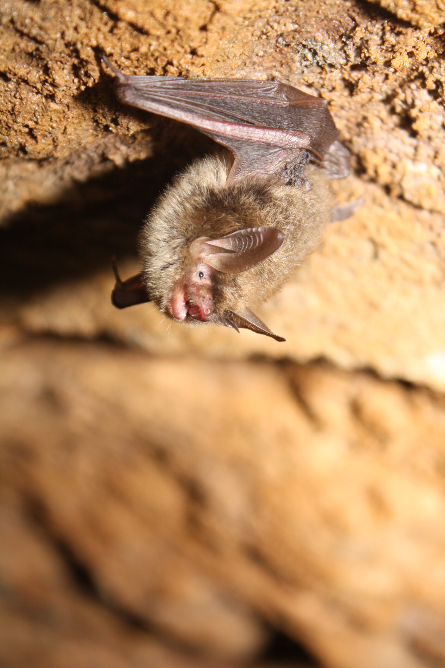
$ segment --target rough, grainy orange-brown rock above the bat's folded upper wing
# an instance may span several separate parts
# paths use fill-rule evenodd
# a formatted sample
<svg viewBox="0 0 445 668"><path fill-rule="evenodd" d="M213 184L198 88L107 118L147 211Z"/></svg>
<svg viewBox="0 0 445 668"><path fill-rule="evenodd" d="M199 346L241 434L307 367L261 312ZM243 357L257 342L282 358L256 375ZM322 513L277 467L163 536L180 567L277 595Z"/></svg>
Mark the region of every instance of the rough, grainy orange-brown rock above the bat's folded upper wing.
<svg viewBox="0 0 445 668"><path fill-rule="evenodd" d="M112 100L102 50L133 73L277 76L321 94L368 178L445 212L441 27L334 0L2 0L0 17L3 157L52 160L57 172L79 146L117 134L125 160L125 137L149 117ZM32 170L28 180L32 200L43 186Z"/></svg>

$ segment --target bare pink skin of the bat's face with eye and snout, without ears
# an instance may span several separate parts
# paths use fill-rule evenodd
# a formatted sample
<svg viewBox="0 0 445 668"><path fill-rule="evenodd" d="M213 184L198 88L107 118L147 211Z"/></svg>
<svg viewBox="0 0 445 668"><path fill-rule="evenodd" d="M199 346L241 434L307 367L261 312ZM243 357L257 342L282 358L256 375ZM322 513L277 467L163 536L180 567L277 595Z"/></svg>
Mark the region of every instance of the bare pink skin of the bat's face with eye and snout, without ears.
<svg viewBox="0 0 445 668"><path fill-rule="evenodd" d="M176 283L167 302L167 311L179 322L191 315L195 320L208 322L213 315L213 273L214 270L198 261Z"/></svg>

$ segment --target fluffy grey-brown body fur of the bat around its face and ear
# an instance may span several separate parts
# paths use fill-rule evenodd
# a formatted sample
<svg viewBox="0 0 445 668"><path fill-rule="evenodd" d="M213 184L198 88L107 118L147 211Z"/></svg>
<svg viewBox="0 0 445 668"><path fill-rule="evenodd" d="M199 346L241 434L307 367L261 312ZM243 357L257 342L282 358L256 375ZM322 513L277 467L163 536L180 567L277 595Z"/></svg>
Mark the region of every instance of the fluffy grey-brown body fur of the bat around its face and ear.
<svg viewBox="0 0 445 668"><path fill-rule="evenodd" d="M332 201L322 170L310 166L311 189L283 185L275 177L246 177L226 185L225 158L198 160L177 176L149 214L141 234L143 273L151 299L164 313L171 289L190 267L188 246L200 236L219 238L248 227L276 227L286 241L271 257L244 273L215 272L214 315L262 303L286 283L328 222ZM187 316L187 321L193 318Z"/></svg>

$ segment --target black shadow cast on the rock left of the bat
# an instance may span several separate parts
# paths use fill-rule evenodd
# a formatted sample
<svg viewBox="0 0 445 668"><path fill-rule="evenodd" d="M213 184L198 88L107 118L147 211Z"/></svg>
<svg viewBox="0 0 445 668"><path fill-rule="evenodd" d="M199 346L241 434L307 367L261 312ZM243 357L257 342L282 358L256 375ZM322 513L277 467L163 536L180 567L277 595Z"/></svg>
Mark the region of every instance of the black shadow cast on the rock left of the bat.
<svg viewBox="0 0 445 668"><path fill-rule="evenodd" d="M113 255L137 254L139 230L165 184L213 146L191 128L160 125L153 158L74 184L57 204L11 216L0 228L0 293L29 296L99 269L111 274Z"/></svg>

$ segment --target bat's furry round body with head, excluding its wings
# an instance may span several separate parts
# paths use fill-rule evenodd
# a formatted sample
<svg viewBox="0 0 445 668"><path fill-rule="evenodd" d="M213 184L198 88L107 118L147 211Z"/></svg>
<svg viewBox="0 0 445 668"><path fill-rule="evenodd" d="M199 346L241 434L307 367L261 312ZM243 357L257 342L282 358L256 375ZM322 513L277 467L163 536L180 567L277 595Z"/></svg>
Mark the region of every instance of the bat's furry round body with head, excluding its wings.
<svg viewBox="0 0 445 668"><path fill-rule="evenodd" d="M229 169L223 158L193 164L161 196L143 228L147 294L177 321L234 327L232 314L245 317L294 274L328 220L322 170L308 170L306 191L268 178L228 185Z"/></svg>

